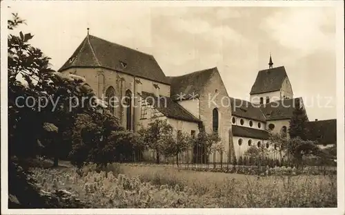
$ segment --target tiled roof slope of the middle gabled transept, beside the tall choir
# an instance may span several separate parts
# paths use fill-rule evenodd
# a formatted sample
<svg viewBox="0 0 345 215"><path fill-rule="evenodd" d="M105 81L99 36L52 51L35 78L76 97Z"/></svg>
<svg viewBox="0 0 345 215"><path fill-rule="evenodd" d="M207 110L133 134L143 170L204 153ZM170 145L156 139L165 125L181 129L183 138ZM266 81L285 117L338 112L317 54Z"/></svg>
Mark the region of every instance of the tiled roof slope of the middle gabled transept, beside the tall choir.
<svg viewBox="0 0 345 215"><path fill-rule="evenodd" d="M196 71L187 75L168 77L171 84L170 95L172 99L177 100L177 95L181 95L181 93L185 95L184 98L186 100L190 99L190 95L200 95L201 90L215 72L217 72L216 67Z"/></svg>

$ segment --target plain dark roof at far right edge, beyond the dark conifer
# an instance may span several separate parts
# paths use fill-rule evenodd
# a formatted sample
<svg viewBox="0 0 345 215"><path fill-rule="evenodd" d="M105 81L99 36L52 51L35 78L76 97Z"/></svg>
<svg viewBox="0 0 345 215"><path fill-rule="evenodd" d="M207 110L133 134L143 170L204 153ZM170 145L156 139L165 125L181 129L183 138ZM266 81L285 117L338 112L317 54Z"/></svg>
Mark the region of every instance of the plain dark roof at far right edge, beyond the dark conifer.
<svg viewBox="0 0 345 215"><path fill-rule="evenodd" d="M337 120L317 120L307 122L308 140L317 144L337 144Z"/></svg>

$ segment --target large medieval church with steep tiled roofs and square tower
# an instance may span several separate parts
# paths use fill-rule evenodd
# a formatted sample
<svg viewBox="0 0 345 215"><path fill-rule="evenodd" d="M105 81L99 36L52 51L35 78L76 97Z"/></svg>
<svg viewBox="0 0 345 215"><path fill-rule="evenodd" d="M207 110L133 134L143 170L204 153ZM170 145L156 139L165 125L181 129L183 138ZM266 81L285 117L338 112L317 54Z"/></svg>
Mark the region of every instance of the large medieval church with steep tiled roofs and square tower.
<svg viewBox="0 0 345 215"><path fill-rule="evenodd" d="M287 133L293 104L303 103L293 97L284 66L274 68L271 57L269 68L257 73L250 101L230 97L217 68L167 77L152 55L89 34L59 72L84 77L99 98L113 104L110 111L126 129L137 131L159 117L176 133L195 137L201 127L219 133L226 156L210 158L216 162L238 159L251 146L275 149L268 142L270 133ZM110 100L113 97L118 100ZM328 121L327 127L336 124ZM315 127L313 122L310 127ZM319 135L327 130L322 121L317 128ZM327 136L323 144L335 144L336 133L328 130L331 134L318 138Z"/></svg>

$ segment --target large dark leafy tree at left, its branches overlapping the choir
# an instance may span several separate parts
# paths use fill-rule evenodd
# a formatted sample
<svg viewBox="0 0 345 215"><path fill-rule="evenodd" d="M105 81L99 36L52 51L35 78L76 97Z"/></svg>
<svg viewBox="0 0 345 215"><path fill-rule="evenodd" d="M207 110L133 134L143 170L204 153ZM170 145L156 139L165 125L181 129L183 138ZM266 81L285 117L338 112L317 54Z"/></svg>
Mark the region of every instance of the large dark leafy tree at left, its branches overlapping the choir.
<svg viewBox="0 0 345 215"><path fill-rule="evenodd" d="M23 23L17 14L13 16L8 21L9 29ZM50 157L54 155L57 165L61 153L66 156L71 149L70 131L75 115L92 113L102 107L97 105L97 100L92 99L95 93L83 77L53 71L49 64L50 58L43 55L39 48L28 44L32 37L30 33L23 32L19 36L8 36L10 156L34 157L38 151L42 151L39 149L46 142L43 152ZM20 76L23 81L18 80ZM83 104L79 104L79 101L83 101ZM58 128L54 141L47 139L43 129L45 123Z"/></svg>

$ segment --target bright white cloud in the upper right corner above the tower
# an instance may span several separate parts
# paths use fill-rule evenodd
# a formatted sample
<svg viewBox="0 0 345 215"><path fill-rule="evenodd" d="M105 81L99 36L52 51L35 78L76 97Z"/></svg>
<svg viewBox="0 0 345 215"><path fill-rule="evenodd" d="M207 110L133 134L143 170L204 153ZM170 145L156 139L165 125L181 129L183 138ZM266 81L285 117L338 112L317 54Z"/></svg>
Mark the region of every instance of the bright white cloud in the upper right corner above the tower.
<svg viewBox="0 0 345 215"><path fill-rule="evenodd" d="M328 8L287 8L267 17L260 27L282 46L309 55L317 50L335 50L332 19L334 10Z"/></svg>

